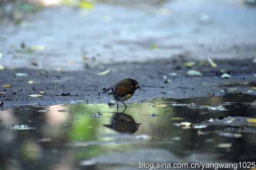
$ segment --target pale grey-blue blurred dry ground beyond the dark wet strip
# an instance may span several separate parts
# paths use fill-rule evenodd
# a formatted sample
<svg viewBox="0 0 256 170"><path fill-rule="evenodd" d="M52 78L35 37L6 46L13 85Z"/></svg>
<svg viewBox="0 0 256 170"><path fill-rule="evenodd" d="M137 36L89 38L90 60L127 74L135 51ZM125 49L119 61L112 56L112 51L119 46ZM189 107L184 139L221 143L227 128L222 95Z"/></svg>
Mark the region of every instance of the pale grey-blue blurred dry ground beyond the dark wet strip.
<svg viewBox="0 0 256 170"><path fill-rule="evenodd" d="M16 24L1 21L0 63L10 69L82 70L85 65L178 55L201 60L255 57L256 9L245 1L65 3L71 5L45 7ZM12 6L3 10L20 17Z"/></svg>

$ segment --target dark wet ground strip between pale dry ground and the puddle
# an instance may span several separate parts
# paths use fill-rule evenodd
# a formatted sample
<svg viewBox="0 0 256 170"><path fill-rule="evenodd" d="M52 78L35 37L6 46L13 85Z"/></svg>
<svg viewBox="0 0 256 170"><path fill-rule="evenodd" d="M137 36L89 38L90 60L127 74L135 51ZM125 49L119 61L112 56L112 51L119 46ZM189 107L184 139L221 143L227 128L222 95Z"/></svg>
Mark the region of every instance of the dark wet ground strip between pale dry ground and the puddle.
<svg viewBox="0 0 256 170"><path fill-rule="evenodd" d="M184 59L184 61L190 61ZM0 101L3 107L24 105L53 105L85 100L87 103L108 103L111 96L102 93L102 89L117 81L130 77L138 81L142 89L135 91L134 96L126 103L147 102L159 97L188 98L223 96L227 93L248 93L255 95L256 73L252 60L215 60L218 67L209 64L187 68L181 58L153 60L146 63L117 63L102 65L103 69L85 69L83 71L52 71L31 69L6 69L0 74L1 84L12 84L12 87L1 87ZM105 76L95 73L111 69ZM201 71L203 76L187 76L190 69ZM220 70L224 69L232 77L221 79ZM170 76L169 73L177 73ZM27 77L16 76L26 73ZM166 77L164 77L166 76ZM164 79L166 78L166 79ZM28 81L35 84L29 84ZM171 82L169 82L171 81ZM44 91L42 94L40 91ZM58 94L67 96L57 96ZM43 97L30 97L30 94L41 94Z"/></svg>

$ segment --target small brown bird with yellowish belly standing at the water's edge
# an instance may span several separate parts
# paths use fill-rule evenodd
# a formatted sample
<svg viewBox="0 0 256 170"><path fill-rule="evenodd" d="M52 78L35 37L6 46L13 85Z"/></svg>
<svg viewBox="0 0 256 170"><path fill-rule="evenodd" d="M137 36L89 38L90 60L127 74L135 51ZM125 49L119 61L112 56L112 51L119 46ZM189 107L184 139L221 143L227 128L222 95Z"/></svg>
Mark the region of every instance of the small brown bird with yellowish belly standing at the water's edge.
<svg viewBox="0 0 256 170"><path fill-rule="evenodd" d="M141 89L138 82L134 79L124 79L118 81L113 86L108 87L103 92L106 93L107 91L111 90L109 95L114 97L114 100L117 101L117 109L118 109L118 101L122 101L124 103L125 100L128 100L132 97L136 89ZM125 109L126 105L124 104Z"/></svg>

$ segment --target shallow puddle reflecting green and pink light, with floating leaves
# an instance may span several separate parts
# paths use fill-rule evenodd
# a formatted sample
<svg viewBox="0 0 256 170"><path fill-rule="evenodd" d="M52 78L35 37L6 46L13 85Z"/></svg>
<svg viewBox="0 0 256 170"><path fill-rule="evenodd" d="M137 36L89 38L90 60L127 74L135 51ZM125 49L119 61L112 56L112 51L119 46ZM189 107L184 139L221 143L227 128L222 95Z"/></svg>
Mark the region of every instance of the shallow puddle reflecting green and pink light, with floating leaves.
<svg viewBox="0 0 256 170"><path fill-rule="evenodd" d="M139 169L256 159L256 96L0 110L0 169ZM98 116L94 116L98 115ZM154 116L152 116L154 115Z"/></svg>

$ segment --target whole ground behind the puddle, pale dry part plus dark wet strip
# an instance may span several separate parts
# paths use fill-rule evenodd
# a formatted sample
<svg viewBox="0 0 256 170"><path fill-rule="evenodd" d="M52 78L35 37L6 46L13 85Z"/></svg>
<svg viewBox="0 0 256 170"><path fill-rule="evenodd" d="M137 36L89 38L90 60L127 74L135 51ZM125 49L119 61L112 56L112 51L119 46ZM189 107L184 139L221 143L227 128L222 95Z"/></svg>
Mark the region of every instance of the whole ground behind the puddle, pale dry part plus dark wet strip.
<svg viewBox="0 0 256 170"><path fill-rule="evenodd" d="M128 77L143 87L128 103L248 90L253 95L255 13L255 8L239 0L101 1L91 10L43 8L19 24L0 26L0 64L6 68L0 70L0 85L12 85L0 86L0 101L4 107L79 100L107 103L110 97L101 89ZM208 57L218 64L216 68L209 63L199 66ZM187 68L184 62L188 61L196 65ZM111 71L106 76L95 74L107 69ZM203 76L186 76L191 69ZM231 79L221 79L221 69ZM173 72L177 76L170 76ZM31 80L35 84L27 83ZM56 96L60 93L70 95Z"/></svg>

